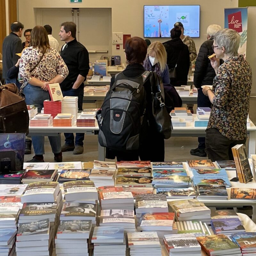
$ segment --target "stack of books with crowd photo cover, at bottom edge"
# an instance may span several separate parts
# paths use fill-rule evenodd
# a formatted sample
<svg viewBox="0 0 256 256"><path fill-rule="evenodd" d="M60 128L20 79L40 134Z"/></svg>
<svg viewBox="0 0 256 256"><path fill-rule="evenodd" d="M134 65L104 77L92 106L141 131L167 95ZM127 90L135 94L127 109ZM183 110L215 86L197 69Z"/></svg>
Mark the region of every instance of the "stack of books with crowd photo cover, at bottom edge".
<svg viewBox="0 0 256 256"><path fill-rule="evenodd" d="M201 246L194 234L170 234L164 236L165 250L172 255L201 256Z"/></svg>

